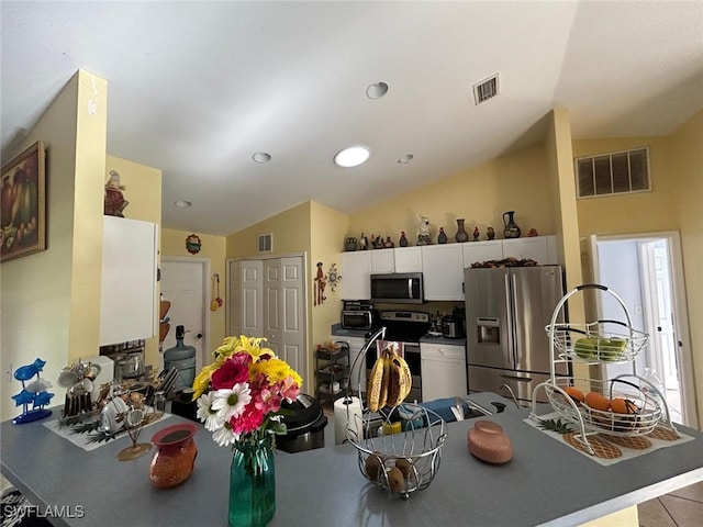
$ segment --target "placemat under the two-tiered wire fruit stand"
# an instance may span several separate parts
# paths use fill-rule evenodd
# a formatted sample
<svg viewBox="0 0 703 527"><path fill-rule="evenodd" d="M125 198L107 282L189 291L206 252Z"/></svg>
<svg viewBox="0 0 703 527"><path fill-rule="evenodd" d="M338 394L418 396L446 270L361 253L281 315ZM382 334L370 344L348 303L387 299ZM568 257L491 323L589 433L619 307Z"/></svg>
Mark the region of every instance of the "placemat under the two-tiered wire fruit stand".
<svg viewBox="0 0 703 527"><path fill-rule="evenodd" d="M540 428L538 419L561 419L561 423L568 423L570 431L561 434L558 431ZM651 434L647 434L646 436L622 437L607 435L605 433L599 433L587 436L589 444L591 445L593 450L595 450L595 455L591 455L588 451L587 447L581 441L579 441L577 437L574 437L577 434L580 435L581 433L579 426L572 424L568 419L565 419L563 416L558 412L538 415L536 417L527 417L523 421L529 426L537 428L539 431L545 433L553 439L568 445L577 452L581 452L589 459L592 459L596 463L605 467L618 463L626 459L636 458L637 456L644 456L646 453L654 452L655 450L658 450L660 448L673 447L676 445L681 445L683 442L693 440L691 436L687 436L685 434L681 434L680 431L679 437L677 437L677 434L673 430L661 425L657 426Z"/></svg>

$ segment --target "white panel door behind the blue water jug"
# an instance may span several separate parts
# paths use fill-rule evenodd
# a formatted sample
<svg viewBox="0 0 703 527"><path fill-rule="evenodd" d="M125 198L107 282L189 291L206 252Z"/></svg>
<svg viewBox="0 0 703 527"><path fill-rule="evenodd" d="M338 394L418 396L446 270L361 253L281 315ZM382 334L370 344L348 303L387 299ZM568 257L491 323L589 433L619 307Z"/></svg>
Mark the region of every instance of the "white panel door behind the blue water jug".
<svg viewBox="0 0 703 527"><path fill-rule="evenodd" d="M161 345L163 350L176 346L176 326L183 326L183 344L196 348L196 371L210 363L209 326L205 313L210 283L210 260L204 258L161 258L161 296L171 303L166 316L170 329ZM164 365L159 365L163 369Z"/></svg>

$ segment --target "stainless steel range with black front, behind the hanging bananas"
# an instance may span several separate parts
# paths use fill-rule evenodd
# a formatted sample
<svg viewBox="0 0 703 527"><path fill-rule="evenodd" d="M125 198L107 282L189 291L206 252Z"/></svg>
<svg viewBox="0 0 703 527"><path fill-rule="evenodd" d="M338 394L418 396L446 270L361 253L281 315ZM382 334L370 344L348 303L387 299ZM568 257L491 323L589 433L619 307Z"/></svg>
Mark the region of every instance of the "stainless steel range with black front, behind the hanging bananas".
<svg viewBox="0 0 703 527"><path fill-rule="evenodd" d="M419 311L381 311L376 329L386 327L386 340L402 344L403 358L413 375L413 386L408 395L409 402L422 401L422 377L420 369L420 338L429 329L429 314ZM370 332L371 336L375 330ZM373 367L378 354L369 351L366 356L366 377Z"/></svg>

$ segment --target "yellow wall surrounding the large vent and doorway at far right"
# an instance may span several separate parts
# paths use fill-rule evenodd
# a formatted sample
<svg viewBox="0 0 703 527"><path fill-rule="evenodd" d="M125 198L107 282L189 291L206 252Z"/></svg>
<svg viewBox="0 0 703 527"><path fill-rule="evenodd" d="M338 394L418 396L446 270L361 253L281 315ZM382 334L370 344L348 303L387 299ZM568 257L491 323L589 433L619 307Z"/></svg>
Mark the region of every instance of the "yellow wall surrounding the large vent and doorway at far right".
<svg viewBox="0 0 703 527"><path fill-rule="evenodd" d="M703 407L703 111L666 137L574 141L574 157L649 147L651 192L578 201L579 229L592 234L679 231L683 251L691 352L699 408ZM703 428L699 415L699 427Z"/></svg>

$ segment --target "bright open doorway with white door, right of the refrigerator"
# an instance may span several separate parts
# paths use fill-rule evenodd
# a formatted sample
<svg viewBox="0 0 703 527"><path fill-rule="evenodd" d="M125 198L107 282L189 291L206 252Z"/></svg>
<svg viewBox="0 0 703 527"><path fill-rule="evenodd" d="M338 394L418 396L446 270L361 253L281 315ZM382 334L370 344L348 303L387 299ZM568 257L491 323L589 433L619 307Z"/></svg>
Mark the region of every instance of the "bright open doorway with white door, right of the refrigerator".
<svg viewBox="0 0 703 527"><path fill-rule="evenodd" d="M627 306L635 329L649 335L635 369L661 380L671 419L696 426L691 343L683 287L681 245L676 232L593 236L593 276ZM596 300L601 319L622 319L622 306ZM620 310L620 311L618 311ZM605 377L632 373L632 365L609 365Z"/></svg>

